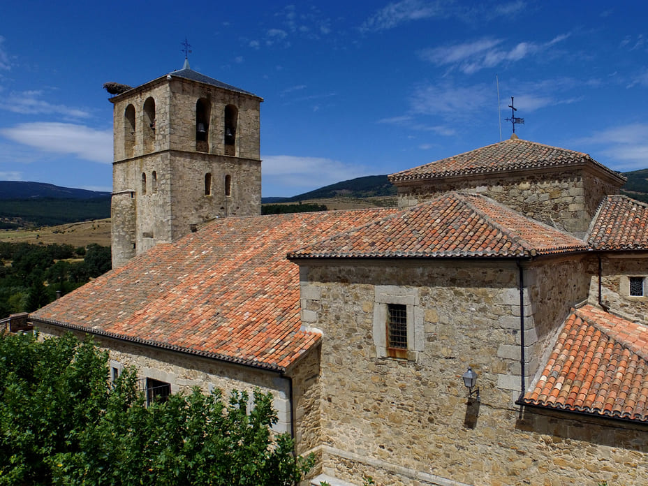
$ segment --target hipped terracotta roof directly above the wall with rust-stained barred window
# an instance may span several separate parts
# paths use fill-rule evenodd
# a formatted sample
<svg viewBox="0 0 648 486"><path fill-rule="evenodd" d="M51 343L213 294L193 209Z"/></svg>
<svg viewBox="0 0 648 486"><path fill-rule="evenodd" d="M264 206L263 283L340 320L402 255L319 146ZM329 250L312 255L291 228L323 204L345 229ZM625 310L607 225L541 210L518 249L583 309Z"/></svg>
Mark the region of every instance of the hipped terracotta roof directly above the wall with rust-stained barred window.
<svg viewBox="0 0 648 486"><path fill-rule="evenodd" d="M519 257L587 248L485 196L450 192L293 251L288 258Z"/></svg>

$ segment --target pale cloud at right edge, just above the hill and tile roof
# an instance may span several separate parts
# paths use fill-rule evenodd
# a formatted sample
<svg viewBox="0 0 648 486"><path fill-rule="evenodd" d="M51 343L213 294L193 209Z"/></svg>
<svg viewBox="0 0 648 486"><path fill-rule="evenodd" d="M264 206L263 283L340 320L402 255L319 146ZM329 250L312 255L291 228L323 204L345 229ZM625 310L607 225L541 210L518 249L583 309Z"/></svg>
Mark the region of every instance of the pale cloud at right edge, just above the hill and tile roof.
<svg viewBox="0 0 648 486"><path fill-rule="evenodd" d="M575 144L601 147L601 154L611 159L614 170L639 170L648 161L648 124L614 126L594 132L590 137L575 140Z"/></svg>

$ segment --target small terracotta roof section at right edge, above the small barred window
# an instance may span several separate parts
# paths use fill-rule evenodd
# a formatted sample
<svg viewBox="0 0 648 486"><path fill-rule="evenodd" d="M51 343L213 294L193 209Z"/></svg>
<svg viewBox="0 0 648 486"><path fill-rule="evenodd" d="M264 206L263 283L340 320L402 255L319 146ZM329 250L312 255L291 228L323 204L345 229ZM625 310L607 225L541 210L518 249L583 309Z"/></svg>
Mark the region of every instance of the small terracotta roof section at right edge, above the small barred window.
<svg viewBox="0 0 648 486"><path fill-rule="evenodd" d="M648 249L648 204L607 196L598 208L588 242L596 250Z"/></svg>

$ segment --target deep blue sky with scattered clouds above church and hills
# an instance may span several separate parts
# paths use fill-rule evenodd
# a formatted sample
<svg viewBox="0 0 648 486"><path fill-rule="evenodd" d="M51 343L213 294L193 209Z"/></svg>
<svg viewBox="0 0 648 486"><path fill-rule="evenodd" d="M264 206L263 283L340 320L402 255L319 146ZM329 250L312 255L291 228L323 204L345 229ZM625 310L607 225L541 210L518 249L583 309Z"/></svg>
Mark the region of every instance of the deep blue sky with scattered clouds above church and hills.
<svg viewBox="0 0 648 486"><path fill-rule="evenodd" d="M508 138L648 168L644 1L3 2L0 180L110 191L112 104L191 68L264 98L263 196ZM498 112L496 76L501 112Z"/></svg>

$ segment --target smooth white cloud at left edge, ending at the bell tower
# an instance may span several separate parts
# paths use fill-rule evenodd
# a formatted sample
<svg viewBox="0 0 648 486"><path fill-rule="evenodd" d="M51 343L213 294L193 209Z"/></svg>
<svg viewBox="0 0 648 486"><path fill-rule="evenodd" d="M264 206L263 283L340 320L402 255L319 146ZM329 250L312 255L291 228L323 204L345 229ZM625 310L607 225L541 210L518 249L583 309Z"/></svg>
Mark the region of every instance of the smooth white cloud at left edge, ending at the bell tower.
<svg viewBox="0 0 648 486"><path fill-rule="evenodd" d="M0 129L0 135L43 152L71 154L79 159L112 163L112 129L96 130L68 123L24 123Z"/></svg>

